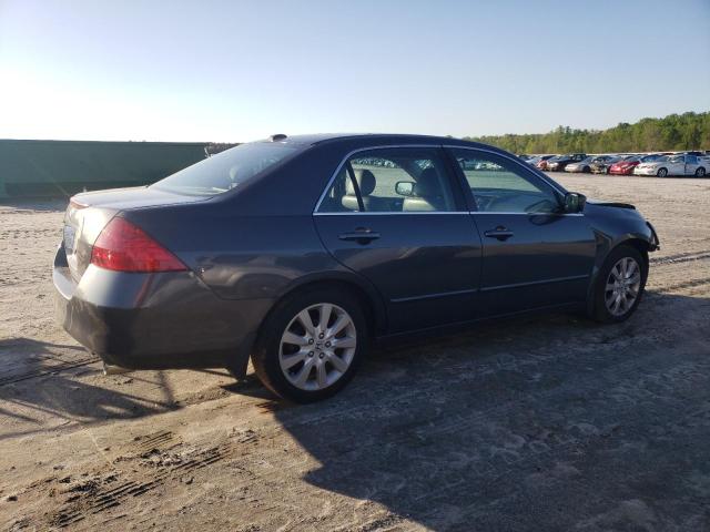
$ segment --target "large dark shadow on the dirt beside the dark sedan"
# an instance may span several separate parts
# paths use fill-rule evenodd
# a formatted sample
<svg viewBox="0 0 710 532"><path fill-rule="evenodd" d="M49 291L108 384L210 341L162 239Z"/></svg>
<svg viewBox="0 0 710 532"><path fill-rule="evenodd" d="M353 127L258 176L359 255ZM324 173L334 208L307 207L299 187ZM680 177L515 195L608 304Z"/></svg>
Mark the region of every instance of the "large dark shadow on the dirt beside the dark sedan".
<svg viewBox="0 0 710 532"><path fill-rule="evenodd" d="M650 293L615 326L486 325L275 415L321 464L307 482L386 509L368 530L707 529L709 318L710 299Z"/></svg>

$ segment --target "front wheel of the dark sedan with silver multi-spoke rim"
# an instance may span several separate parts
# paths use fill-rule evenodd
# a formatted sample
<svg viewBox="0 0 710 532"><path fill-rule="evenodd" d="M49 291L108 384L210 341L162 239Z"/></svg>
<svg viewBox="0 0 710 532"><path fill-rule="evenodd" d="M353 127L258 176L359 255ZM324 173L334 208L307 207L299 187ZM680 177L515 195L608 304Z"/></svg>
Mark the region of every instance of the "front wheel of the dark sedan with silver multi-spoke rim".
<svg viewBox="0 0 710 532"><path fill-rule="evenodd" d="M622 245L611 250L594 289L592 317L606 324L628 319L641 300L647 275L638 249Z"/></svg>

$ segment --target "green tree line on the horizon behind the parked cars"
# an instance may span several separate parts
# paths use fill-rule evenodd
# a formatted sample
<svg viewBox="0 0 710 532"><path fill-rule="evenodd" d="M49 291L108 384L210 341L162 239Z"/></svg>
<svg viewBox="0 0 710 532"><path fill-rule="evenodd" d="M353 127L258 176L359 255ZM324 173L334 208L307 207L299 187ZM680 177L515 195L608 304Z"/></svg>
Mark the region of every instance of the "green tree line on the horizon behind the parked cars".
<svg viewBox="0 0 710 532"><path fill-rule="evenodd" d="M549 133L465 137L513 153L625 153L710 150L710 112L669 114L608 130L559 126Z"/></svg>

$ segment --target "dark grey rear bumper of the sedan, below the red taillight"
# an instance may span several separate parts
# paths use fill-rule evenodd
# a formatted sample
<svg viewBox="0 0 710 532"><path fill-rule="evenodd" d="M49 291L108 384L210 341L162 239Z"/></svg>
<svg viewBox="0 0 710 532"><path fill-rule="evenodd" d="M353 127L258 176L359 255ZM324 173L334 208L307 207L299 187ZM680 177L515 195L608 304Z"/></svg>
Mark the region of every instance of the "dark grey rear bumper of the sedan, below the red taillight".
<svg viewBox="0 0 710 532"><path fill-rule="evenodd" d="M271 299L225 300L192 272L135 274L90 265L79 283L60 246L57 318L105 362L131 369L246 368Z"/></svg>

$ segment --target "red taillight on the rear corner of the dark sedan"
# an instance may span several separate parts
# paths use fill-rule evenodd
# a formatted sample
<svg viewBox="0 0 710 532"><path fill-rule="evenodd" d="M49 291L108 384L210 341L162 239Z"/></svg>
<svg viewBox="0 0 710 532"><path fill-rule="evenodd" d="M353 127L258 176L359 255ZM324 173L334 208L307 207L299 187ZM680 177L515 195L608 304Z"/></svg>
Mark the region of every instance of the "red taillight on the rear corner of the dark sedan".
<svg viewBox="0 0 710 532"><path fill-rule="evenodd" d="M143 229L121 217L106 225L91 252L91 264L116 272L182 272L187 269Z"/></svg>

